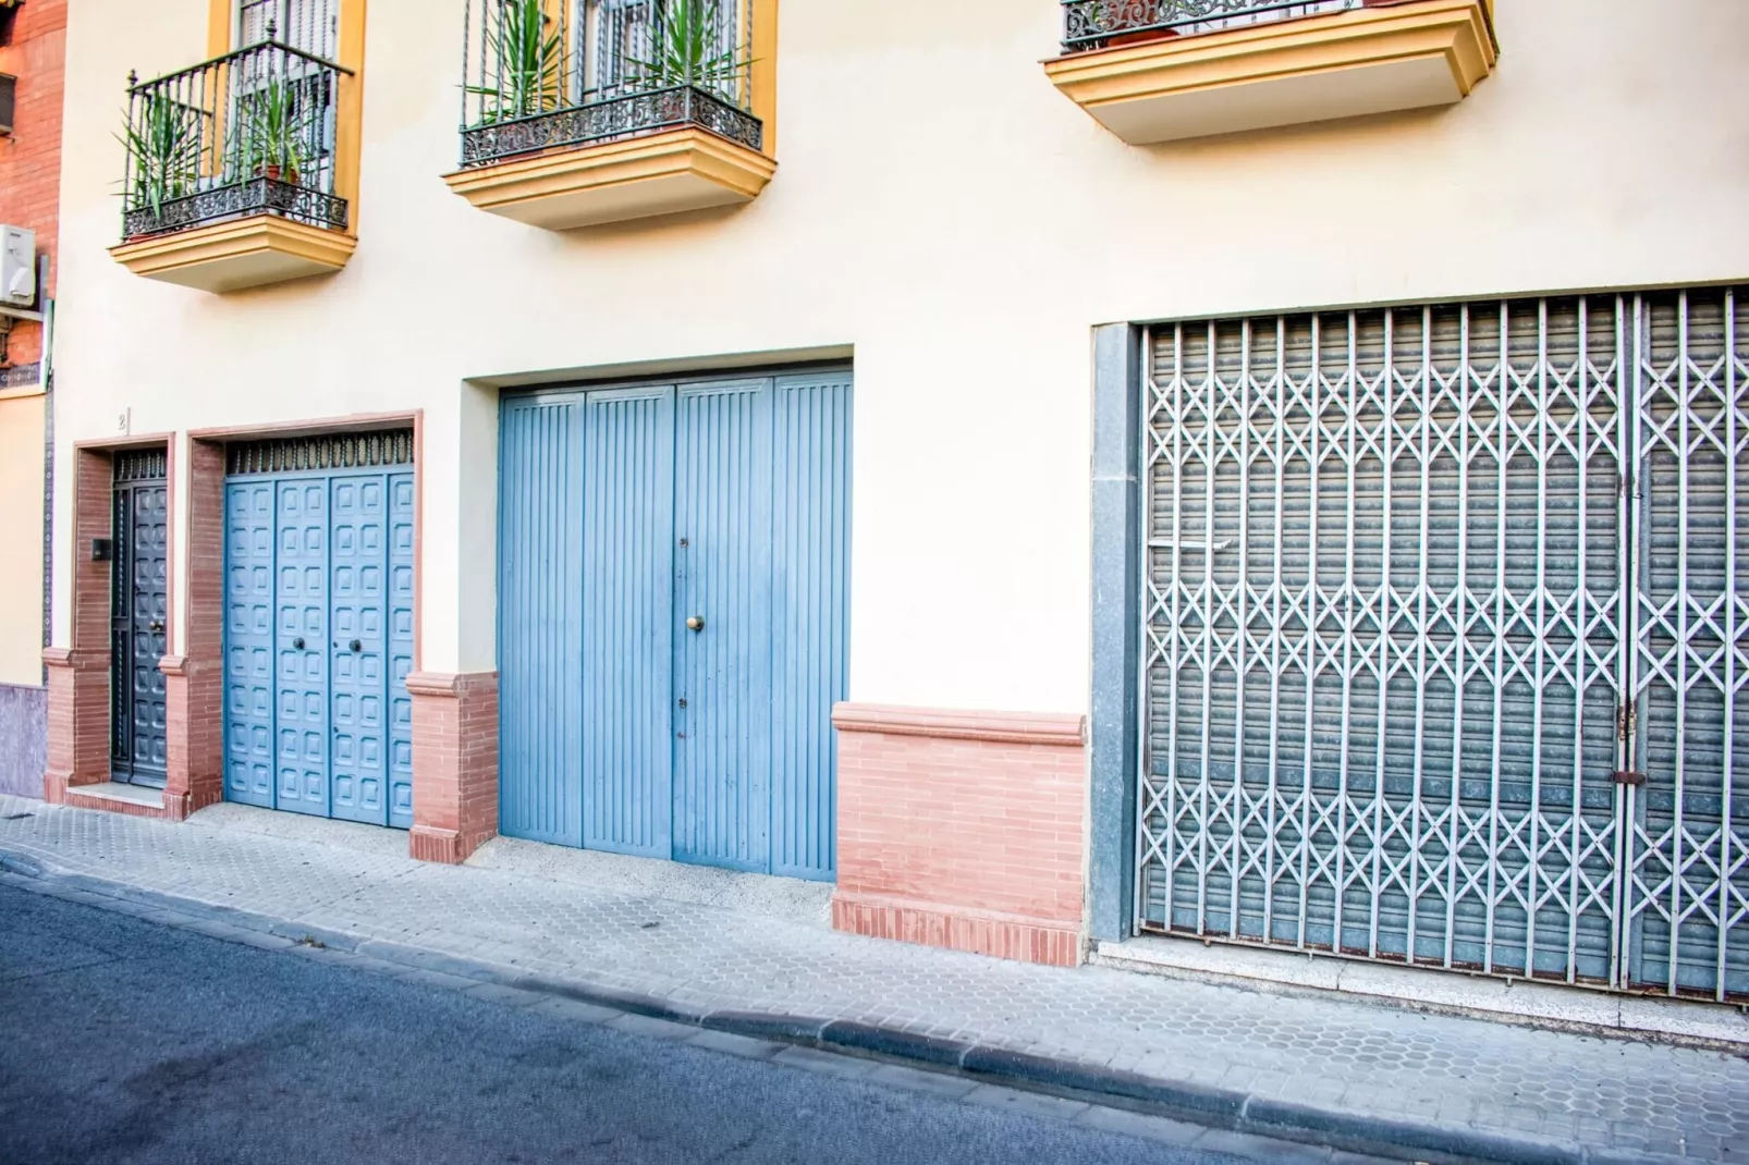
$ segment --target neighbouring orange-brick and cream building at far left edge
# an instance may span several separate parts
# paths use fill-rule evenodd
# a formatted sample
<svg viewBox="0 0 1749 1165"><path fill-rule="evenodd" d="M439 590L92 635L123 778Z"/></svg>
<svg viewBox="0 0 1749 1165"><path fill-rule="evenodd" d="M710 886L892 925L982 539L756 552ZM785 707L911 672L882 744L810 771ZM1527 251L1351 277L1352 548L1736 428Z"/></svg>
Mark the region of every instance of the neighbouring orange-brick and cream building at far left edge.
<svg viewBox="0 0 1749 1165"><path fill-rule="evenodd" d="M47 493L66 0L0 3L0 792L40 796ZM19 282L23 280L23 282ZM38 549L40 548L40 549Z"/></svg>

